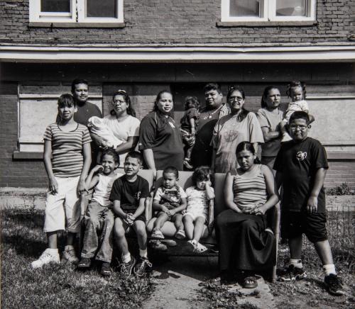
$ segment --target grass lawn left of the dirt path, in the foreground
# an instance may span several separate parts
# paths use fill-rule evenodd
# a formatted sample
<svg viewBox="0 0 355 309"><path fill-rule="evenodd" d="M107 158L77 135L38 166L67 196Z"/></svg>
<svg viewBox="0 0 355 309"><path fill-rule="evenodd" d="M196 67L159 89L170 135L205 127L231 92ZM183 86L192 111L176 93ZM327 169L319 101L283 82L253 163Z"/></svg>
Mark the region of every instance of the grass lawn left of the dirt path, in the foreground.
<svg viewBox="0 0 355 309"><path fill-rule="evenodd" d="M149 278L104 279L96 269L68 264L31 269L46 247L43 212L1 210L1 308L140 308L153 291Z"/></svg>

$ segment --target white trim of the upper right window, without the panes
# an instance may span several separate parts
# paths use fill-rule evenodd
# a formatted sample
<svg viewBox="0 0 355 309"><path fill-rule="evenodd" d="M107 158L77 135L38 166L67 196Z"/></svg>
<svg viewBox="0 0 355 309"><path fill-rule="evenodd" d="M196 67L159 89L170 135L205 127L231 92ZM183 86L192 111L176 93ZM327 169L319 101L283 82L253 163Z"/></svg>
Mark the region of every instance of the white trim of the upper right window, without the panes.
<svg viewBox="0 0 355 309"><path fill-rule="evenodd" d="M276 16L276 0L260 0L261 16L230 16L230 0L221 0L221 21L222 22L290 22L290 21L315 21L316 19L316 0L307 0L307 16Z"/></svg>

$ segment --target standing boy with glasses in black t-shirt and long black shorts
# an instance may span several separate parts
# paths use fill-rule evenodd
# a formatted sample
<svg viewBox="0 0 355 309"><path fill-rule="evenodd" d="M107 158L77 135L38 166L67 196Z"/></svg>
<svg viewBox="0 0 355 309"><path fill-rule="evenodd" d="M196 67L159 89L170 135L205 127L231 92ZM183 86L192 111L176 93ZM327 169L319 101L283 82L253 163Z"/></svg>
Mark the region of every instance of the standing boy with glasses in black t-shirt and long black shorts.
<svg viewBox="0 0 355 309"><path fill-rule="evenodd" d="M295 111L288 125L293 140L281 145L273 166L278 188L283 185L281 235L288 239L290 247L290 266L278 279L305 278L301 261L302 234L305 234L322 261L324 284L329 293L342 295L325 226L323 184L328 169L327 154L318 140L307 137L309 129L308 114Z"/></svg>

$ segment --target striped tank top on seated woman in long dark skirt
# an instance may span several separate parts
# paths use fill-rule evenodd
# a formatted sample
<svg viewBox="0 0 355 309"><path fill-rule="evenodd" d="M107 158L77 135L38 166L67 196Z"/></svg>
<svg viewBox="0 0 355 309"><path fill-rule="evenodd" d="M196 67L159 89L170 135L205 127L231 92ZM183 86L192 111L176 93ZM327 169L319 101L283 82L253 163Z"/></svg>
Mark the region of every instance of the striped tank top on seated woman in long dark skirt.
<svg viewBox="0 0 355 309"><path fill-rule="evenodd" d="M263 206L268 198L266 183L261 164L258 164L258 174L253 178L244 178L236 174L233 179L234 203L239 208L246 206Z"/></svg>

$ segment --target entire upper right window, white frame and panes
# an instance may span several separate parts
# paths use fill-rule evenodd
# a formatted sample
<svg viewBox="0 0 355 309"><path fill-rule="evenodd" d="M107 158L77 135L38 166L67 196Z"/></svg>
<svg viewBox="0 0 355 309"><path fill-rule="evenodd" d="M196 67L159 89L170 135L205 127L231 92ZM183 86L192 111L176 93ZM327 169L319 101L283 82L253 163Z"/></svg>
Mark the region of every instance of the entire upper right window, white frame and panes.
<svg viewBox="0 0 355 309"><path fill-rule="evenodd" d="M222 0L222 22L315 21L316 0Z"/></svg>

